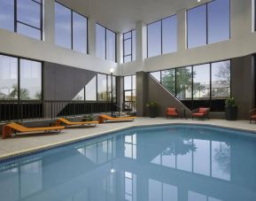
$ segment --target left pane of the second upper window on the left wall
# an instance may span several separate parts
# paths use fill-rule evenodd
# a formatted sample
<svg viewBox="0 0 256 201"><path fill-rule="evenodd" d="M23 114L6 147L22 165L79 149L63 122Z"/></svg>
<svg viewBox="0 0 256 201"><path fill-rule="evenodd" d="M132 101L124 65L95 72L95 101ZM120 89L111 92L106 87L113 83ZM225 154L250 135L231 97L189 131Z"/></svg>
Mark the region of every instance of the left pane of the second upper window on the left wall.
<svg viewBox="0 0 256 201"><path fill-rule="evenodd" d="M71 49L71 10L55 3L55 43Z"/></svg>

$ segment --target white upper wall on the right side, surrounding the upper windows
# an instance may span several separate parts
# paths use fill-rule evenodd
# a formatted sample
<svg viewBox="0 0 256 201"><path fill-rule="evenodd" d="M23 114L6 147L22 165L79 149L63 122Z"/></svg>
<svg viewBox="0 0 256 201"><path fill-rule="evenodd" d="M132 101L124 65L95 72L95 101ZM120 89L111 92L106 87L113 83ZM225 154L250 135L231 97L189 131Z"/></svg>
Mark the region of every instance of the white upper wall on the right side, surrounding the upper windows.
<svg viewBox="0 0 256 201"><path fill-rule="evenodd" d="M122 64L121 74L128 75L141 71L141 69L150 72L172 67L196 65L255 53L256 33L252 33L252 0L230 0L230 3L231 37L229 41L186 49L186 10L183 9L177 12L178 51L145 58L144 64L138 64L137 62ZM144 37L146 37L145 33Z"/></svg>

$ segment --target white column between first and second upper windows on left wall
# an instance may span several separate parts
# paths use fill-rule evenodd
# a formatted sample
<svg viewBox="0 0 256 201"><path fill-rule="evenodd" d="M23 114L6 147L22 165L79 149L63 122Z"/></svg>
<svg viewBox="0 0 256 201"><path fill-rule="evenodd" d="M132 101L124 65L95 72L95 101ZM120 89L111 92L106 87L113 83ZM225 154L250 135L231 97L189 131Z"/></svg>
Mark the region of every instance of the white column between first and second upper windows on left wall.
<svg viewBox="0 0 256 201"><path fill-rule="evenodd" d="M45 43L55 43L55 9L54 0L44 1L43 40Z"/></svg>

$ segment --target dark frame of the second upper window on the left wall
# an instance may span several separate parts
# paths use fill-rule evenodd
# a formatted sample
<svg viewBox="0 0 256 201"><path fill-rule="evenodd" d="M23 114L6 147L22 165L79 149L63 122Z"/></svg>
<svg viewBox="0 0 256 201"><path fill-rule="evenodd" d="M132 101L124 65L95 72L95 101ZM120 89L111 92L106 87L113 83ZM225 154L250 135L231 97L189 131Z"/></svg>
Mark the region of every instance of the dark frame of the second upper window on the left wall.
<svg viewBox="0 0 256 201"><path fill-rule="evenodd" d="M17 0L16 0L17 1ZM78 14L79 16L81 16L81 17L83 17L83 18L85 18L86 19L86 46L85 46L85 48L86 48L86 51L85 52L81 52L81 51L78 51L78 50L74 50L74 51L77 51L77 52L80 52L80 53L84 53L84 54L89 54L89 37L88 37L88 34L89 34L89 32L88 32L88 28L89 28L89 25L88 25L88 17L86 17L86 16L84 16L83 14L81 14L81 13L79 13L79 12L76 12L76 11L74 11L73 9L71 9L71 8L69 8L69 7L67 7L65 4L61 4L61 3L59 3L57 0L55 0L55 2L54 2L55 4L60 4L60 5L62 5L62 6L64 6L64 7L66 7L66 9L68 9L70 12L71 12L71 14L70 14L70 18L71 18L71 47L70 48L68 48L68 50L74 50L74 13L76 13L76 14ZM55 5L54 5L55 6ZM56 15L54 16L54 18L56 18ZM55 22L56 23L56 22ZM55 23L54 23L54 26L55 26ZM56 26L55 26L56 27ZM55 37L56 37L56 33L55 33ZM55 44L57 45L57 46L59 46L59 47L62 47L62 48L66 48L66 47L63 47L63 46L61 46L61 45L58 45L56 42L55 42Z"/></svg>

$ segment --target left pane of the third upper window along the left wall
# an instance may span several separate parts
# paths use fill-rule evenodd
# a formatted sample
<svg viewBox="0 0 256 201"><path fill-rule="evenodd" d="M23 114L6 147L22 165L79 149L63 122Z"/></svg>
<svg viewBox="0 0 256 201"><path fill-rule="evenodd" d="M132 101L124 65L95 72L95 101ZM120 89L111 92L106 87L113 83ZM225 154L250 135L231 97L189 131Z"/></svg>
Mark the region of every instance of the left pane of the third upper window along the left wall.
<svg viewBox="0 0 256 201"><path fill-rule="evenodd" d="M96 25L96 55L105 59L105 27Z"/></svg>

